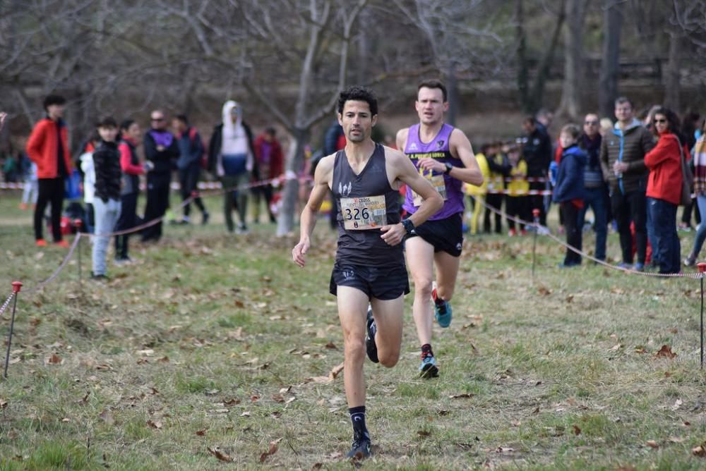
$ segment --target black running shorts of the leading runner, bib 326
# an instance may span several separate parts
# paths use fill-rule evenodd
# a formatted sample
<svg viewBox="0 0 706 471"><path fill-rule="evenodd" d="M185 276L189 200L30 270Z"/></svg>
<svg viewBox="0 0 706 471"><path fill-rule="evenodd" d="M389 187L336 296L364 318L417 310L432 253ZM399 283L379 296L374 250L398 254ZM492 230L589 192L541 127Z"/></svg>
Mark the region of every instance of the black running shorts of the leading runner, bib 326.
<svg viewBox="0 0 706 471"><path fill-rule="evenodd" d="M368 298L386 301L409 294L409 277L404 264L378 268L336 262L329 285L329 291L334 296L338 286L356 288Z"/></svg>

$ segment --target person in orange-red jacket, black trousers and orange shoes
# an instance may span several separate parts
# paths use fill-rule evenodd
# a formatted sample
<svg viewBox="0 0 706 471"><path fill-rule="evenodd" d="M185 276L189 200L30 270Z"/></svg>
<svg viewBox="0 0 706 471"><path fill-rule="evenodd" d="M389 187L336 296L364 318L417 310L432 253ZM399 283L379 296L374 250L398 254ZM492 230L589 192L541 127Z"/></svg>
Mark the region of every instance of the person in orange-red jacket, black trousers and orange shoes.
<svg viewBox="0 0 706 471"><path fill-rule="evenodd" d="M42 235L44 210L52 204L52 236L54 243L68 247L61 238L61 211L64 204L64 178L71 173L71 154L68 152L68 131L62 117L66 100L59 95L44 98L47 117L40 120L27 141L27 154L37 164L39 196L35 207L35 240L37 247L47 245Z"/></svg>

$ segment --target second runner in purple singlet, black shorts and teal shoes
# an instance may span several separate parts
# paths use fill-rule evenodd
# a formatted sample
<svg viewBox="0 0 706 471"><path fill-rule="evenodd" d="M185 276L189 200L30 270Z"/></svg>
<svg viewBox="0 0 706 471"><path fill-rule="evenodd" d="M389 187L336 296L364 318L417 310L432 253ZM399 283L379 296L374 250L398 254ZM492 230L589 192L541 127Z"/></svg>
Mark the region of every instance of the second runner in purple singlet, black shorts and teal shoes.
<svg viewBox="0 0 706 471"><path fill-rule="evenodd" d="M414 162L441 193L444 203L405 240L409 273L414 280L414 323L421 344L419 375L438 376L438 365L431 350L431 305L433 300L436 321L441 327L451 324L449 301L456 284L461 249L463 246L463 182L483 183L481 173L468 137L462 130L443 122L448 109L446 87L439 80L425 80L417 88L414 107L419 124L397 133L397 147ZM407 189L405 210L414 215L419 209L419 198ZM436 289L432 288L436 267Z"/></svg>

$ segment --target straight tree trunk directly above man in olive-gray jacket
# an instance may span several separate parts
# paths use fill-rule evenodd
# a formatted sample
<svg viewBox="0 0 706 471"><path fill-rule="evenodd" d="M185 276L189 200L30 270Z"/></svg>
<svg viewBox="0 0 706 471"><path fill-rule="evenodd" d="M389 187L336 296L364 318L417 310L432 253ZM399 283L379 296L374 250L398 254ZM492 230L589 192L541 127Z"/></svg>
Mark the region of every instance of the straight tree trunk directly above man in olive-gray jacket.
<svg viewBox="0 0 706 471"><path fill-rule="evenodd" d="M606 0L603 15L603 59L598 78L598 108L601 116L614 118L620 72L620 37L623 25L621 3Z"/></svg>

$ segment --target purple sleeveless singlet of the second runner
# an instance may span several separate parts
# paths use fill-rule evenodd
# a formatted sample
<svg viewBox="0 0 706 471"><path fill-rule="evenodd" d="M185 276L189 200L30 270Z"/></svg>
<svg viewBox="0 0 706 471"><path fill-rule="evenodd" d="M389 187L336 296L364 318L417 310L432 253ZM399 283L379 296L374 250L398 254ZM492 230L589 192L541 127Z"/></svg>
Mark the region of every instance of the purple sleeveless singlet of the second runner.
<svg viewBox="0 0 706 471"><path fill-rule="evenodd" d="M419 169L419 159L425 159L431 157L432 159L437 159L440 162L449 162L455 167L462 167L463 163L460 159L456 159L451 155L448 141L451 137L451 132L453 131L453 126L444 124L441 126L441 130L434 137L431 142L424 144L419 139L419 124L409 126L409 134L407 135L407 145L405 146L405 154L409 159L412 159L414 166ZM439 172L433 172L433 175L443 174ZM463 192L461 190L462 182L453 178L451 176L443 174L444 185L446 187L446 201L443 202L443 207L441 210L431 216L429 221L438 221L439 219L446 219L453 214L462 213L463 206ZM403 206L409 214L414 214L414 212L419 209L414 206L414 197L412 196L412 188L407 187L407 194L405 195L405 204Z"/></svg>

